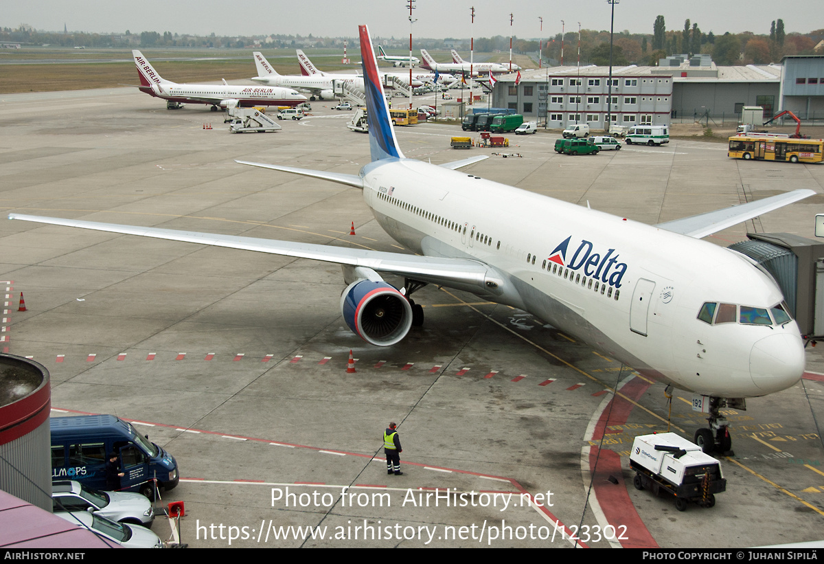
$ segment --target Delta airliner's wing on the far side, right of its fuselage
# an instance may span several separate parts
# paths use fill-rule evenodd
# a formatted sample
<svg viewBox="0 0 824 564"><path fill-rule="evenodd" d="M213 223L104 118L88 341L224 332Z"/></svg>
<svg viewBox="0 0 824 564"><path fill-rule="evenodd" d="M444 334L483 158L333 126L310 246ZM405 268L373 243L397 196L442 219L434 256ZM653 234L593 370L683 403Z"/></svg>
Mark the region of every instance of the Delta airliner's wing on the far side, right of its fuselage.
<svg viewBox="0 0 824 564"><path fill-rule="evenodd" d="M716 209L706 214L693 215L689 218L676 219L667 223L658 223L655 227L700 239L731 227L736 223L747 221L747 219L755 218L773 209L779 209L787 204L803 200L813 194L815 194L813 190L793 190L786 194L770 196L770 198L756 200L748 204L733 205L730 208Z"/></svg>

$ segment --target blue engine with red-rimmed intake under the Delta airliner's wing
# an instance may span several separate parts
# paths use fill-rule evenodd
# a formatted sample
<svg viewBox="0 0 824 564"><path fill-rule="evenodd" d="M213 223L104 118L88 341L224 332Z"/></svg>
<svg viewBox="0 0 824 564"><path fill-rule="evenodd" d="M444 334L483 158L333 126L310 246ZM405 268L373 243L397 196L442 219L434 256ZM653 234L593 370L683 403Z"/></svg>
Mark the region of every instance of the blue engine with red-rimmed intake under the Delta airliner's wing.
<svg viewBox="0 0 824 564"><path fill-rule="evenodd" d="M412 327L412 306L390 284L355 280L340 297L344 320L356 335L372 345L395 345Z"/></svg>

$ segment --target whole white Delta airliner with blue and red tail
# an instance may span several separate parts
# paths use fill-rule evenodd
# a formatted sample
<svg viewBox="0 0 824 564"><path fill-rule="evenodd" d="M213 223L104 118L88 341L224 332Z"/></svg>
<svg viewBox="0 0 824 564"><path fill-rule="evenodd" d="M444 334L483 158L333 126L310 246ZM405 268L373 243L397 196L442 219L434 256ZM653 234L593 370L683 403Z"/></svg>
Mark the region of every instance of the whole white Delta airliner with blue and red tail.
<svg viewBox="0 0 824 564"><path fill-rule="evenodd" d="M378 223L418 255L11 214L69 227L333 262L348 284L347 325L393 345L423 322L410 298L425 284L520 308L630 365L695 393L705 450L731 447L725 406L798 382L804 352L780 289L746 256L700 240L801 200L794 190L655 226L404 157L389 119L366 26L360 27L372 162L358 175L242 162L355 186ZM403 289L382 275L405 278Z"/></svg>

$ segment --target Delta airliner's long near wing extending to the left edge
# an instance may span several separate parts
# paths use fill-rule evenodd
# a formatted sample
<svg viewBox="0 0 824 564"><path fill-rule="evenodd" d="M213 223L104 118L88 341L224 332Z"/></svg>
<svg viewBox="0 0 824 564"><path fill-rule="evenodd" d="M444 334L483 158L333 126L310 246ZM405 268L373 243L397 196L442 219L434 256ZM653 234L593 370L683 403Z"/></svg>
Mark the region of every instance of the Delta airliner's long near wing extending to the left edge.
<svg viewBox="0 0 824 564"><path fill-rule="evenodd" d="M49 218L38 215L9 214L8 219L21 219L36 223L94 229L96 231L138 235L140 237L154 237L169 241L193 242L244 251L266 252L273 255L334 262L339 265L365 266L378 272L401 275L414 280L442 284L456 289L466 289L475 293L485 290L485 277L489 271L489 267L484 263L470 259L406 255L397 252L369 251L367 249L200 233L197 231L98 223L80 219ZM493 273L489 272L489 275L493 275Z"/></svg>

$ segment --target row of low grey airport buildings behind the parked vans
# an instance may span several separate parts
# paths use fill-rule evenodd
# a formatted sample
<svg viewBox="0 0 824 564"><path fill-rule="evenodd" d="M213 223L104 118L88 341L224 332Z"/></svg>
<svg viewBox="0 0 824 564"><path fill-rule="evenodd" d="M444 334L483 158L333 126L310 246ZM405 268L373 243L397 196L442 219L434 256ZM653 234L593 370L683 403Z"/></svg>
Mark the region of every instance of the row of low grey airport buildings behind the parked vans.
<svg viewBox="0 0 824 564"><path fill-rule="evenodd" d="M709 118L737 123L743 106L761 106L764 119L792 110L824 118L824 56L784 57L781 63L718 66L708 55L673 55L657 66L550 67L503 75L491 105L509 108L549 128L588 123L669 125ZM611 87L610 87L611 86ZM609 101L608 101L609 99Z"/></svg>

